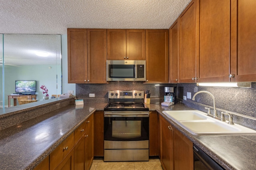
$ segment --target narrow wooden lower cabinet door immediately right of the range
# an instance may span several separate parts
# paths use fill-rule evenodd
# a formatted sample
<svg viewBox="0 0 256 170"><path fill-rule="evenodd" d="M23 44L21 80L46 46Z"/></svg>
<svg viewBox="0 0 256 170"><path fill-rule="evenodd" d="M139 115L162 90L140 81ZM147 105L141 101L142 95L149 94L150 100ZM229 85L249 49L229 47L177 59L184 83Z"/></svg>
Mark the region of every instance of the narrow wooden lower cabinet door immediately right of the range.
<svg viewBox="0 0 256 170"><path fill-rule="evenodd" d="M149 113L149 156L159 155L159 117L156 111Z"/></svg>

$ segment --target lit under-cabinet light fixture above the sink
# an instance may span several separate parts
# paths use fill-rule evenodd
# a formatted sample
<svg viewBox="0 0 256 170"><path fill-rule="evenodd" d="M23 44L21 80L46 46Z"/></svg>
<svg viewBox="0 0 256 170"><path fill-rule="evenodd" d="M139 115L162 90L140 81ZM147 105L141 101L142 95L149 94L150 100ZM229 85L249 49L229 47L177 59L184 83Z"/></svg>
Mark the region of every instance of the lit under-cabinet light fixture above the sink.
<svg viewBox="0 0 256 170"><path fill-rule="evenodd" d="M251 82L226 82L226 83L196 83L197 86L212 87L251 87Z"/></svg>

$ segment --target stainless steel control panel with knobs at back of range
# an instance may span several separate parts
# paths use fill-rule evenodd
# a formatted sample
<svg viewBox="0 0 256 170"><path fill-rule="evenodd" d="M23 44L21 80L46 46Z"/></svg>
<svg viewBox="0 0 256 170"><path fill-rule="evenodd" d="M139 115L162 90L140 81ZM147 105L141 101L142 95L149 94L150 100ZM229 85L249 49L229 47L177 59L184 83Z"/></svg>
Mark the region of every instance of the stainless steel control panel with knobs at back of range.
<svg viewBox="0 0 256 170"><path fill-rule="evenodd" d="M111 90L108 91L108 98L110 99L143 99L144 98L144 91L139 90L130 90L130 91L123 91L123 90Z"/></svg>

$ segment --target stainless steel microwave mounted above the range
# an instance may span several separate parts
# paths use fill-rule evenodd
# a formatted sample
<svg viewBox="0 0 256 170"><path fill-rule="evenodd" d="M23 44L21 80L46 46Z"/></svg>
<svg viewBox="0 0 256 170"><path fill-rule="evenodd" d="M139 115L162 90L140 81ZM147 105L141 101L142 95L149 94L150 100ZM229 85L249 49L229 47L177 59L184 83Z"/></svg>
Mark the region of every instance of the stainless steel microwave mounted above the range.
<svg viewBox="0 0 256 170"><path fill-rule="evenodd" d="M146 81L146 61L107 60L107 81Z"/></svg>

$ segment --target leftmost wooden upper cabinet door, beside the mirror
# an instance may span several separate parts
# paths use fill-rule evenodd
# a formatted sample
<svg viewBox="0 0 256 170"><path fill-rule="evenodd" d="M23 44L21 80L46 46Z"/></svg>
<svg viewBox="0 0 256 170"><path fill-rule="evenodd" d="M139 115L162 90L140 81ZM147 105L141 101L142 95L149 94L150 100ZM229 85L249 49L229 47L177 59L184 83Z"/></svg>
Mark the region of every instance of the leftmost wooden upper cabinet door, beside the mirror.
<svg viewBox="0 0 256 170"><path fill-rule="evenodd" d="M68 29L68 83L87 80L87 30Z"/></svg>

